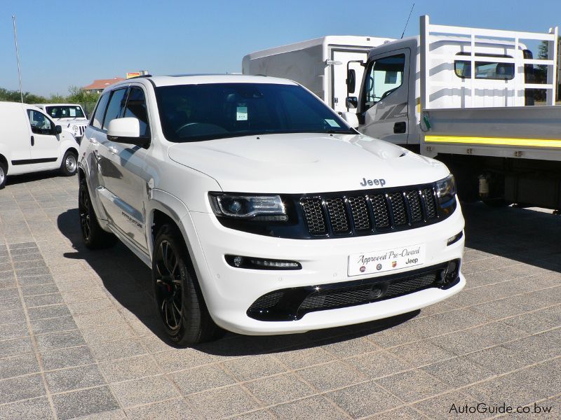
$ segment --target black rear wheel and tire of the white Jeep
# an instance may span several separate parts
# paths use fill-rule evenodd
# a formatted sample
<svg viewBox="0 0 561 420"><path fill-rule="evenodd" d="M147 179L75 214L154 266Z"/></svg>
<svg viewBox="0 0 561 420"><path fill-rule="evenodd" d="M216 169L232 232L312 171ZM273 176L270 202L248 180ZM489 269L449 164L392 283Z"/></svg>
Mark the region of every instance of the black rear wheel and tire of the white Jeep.
<svg viewBox="0 0 561 420"><path fill-rule="evenodd" d="M104 231L92 206L90 192L86 179L80 181L78 190L78 213L80 220L80 230L82 232L83 243L90 249L109 248L116 242L115 235Z"/></svg>

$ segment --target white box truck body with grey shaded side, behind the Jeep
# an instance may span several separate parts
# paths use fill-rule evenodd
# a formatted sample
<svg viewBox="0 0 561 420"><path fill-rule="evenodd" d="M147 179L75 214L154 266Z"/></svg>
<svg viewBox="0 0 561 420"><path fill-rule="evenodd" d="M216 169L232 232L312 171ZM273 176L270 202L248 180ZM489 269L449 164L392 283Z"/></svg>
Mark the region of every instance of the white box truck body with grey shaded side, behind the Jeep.
<svg viewBox="0 0 561 420"><path fill-rule="evenodd" d="M374 36L323 36L321 38L252 52L243 57L242 73L294 80L315 93L337 112L348 111L346 73L362 76L368 51L391 41Z"/></svg>

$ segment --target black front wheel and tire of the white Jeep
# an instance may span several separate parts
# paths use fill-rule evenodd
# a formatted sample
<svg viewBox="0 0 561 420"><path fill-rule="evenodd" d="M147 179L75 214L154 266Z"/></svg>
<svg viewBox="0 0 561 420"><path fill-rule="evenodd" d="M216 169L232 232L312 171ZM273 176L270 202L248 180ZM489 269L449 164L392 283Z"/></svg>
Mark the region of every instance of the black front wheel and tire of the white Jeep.
<svg viewBox="0 0 561 420"><path fill-rule="evenodd" d="M187 247L173 225L163 225L156 235L152 281L156 310L173 344L193 346L223 334L208 313Z"/></svg>

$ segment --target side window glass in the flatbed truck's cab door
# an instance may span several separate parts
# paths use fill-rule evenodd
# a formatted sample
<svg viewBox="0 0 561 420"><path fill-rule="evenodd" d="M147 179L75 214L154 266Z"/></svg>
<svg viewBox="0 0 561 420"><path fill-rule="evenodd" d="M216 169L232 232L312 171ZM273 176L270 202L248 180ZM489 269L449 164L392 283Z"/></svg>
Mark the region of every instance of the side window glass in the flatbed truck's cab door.
<svg viewBox="0 0 561 420"><path fill-rule="evenodd" d="M401 86L405 71L405 54L377 59L370 64L365 83L365 109L384 99Z"/></svg>

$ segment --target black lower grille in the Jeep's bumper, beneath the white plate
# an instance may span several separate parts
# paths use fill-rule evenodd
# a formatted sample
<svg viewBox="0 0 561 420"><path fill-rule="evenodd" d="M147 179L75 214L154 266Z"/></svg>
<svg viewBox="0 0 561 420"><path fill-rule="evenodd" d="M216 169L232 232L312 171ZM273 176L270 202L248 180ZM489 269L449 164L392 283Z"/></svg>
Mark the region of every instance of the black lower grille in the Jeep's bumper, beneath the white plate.
<svg viewBox="0 0 561 420"><path fill-rule="evenodd" d="M425 288L447 288L457 281L458 275L459 260L452 260L372 279L275 290L255 300L248 316L260 321L297 320L311 311L378 302Z"/></svg>

